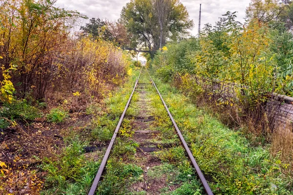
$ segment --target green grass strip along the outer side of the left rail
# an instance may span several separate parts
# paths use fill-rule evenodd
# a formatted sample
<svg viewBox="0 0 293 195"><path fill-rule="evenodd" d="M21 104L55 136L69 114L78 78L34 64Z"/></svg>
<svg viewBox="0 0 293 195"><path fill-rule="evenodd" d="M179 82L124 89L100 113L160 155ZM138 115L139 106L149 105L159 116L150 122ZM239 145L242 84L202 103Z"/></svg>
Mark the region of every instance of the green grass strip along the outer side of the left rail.
<svg viewBox="0 0 293 195"><path fill-rule="evenodd" d="M90 143L102 143L111 139L133 88L134 81L135 75L131 76L122 88L111 93L109 98L105 99L104 105L96 103L89 105L86 113L93 115L91 121L92 131L90 137L85 142L78 135L68 133L67 137L64 138L66 147L61 149L59 154L44 159L41 168L47 172L47 175L44 184L45 188L42 191L43 195L86 195L88 193L105 150L93 152L92 154L95 156L94 161L91 157L85 155L84 147ZM62 122L66 114L67 112L63 109L52 109L47 118L50 121ZM134 110L129 112L129 115L134 114ZM122 124L124 129L129 128L128 126L127 122ZM127 154L133 152L136 146L135 143L128 143L128 145L118 144L114 152ZM113 171L122 170L121 173L119 172L122 176L138 175L142 171L134 165L124 165L119 162L112 163ZM111 165L111 161L108 164ZM118 168L120 169L116 165L119 165ZM120 180L119 177L105 178L104 180L113 184L117 183L117 179Z"/></svg>

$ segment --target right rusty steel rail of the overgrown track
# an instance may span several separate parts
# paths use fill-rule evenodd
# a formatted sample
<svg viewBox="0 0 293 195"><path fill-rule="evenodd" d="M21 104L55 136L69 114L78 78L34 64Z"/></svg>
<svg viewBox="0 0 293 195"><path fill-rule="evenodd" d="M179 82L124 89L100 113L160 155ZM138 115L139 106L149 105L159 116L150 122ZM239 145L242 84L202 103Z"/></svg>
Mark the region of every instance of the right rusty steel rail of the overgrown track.
<svg viewBox="0 0 293 195"><path fill-rule="evenodd" d="M159 96L160 96L160 98L161 98L161 100L162 100L162 102L163 102L163 104L164 104L164 106L165 106L165 108L166 108L168 114L169 114L169 117L170 117L170 119L171 119L171 121L172 121L172 123L173 123L173 125L174 125L174 127L175 127L175 129L176 129L176 131L177 131L177 134L179 135L179 138L180 138L180 140L181 140L181 142L182 142L182 144L183 144L183 147L184 147L185 151L187 152L188 157L189 157L189 159L191 160L191 163L192 163L193 167L195 168L195 171L196 171L196 173L197 173L199 179L201 180L201 182L202 182L202 184L203 184L203 186L204 186L204 189L205 189L207 195L213 195L213 193L212 193L212 191L210 190L209 184L208 184L208 182L207 182L207 180L206 180L204 174L201 172L199 166L197 165L197 163L196 163L196 161L195 161L195 159L194 159L194 157L193 157L193 154L192 154L192 152L190 151L190 149L188 148L188 145L187 145L187 143L186 143L186 141L185 141L185 139L184 139L182 133L180 132L180 130L179 130L179 128L178 128L178 126L177 126L175 120L173 119L173 116L172 116L171 112L169 111L169 109L168 109L168 107L167 107L167 105L166 105L166 103L165 103L165 101L164 101L164 99L163 99L161 93L159 92L159 89L157 88L155 82L152 80L152 78L151 78L150 74L148 73L147 69L146 69L146 72L147 72L147 74L148 74L148 76L149 76L149 78L150 78L150 81L152 82L153 86L156 88L156 90L157 90L157 92L158 92L158 94L159 94Z"/></svg>

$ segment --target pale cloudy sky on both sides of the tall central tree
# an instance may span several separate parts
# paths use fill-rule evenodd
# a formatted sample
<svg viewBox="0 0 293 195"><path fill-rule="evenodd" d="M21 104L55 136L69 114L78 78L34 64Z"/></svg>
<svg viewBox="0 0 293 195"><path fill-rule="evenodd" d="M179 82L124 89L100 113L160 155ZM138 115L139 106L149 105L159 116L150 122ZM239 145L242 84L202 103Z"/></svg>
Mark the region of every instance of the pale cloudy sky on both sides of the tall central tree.
<svg viewBox="0 0 293 195"><path fill-rule="evenodd" d="M57 0L56 5L67 10L77 10L88 18L119 19L122 7L130 0ZM199 4L202 4L202 26L214 24L227 11L237 11L238 21L243 22L245 8L250 0L181 0L194 22L192 35L197 34ZM87 21L83 21L86 23Z"/></svg>

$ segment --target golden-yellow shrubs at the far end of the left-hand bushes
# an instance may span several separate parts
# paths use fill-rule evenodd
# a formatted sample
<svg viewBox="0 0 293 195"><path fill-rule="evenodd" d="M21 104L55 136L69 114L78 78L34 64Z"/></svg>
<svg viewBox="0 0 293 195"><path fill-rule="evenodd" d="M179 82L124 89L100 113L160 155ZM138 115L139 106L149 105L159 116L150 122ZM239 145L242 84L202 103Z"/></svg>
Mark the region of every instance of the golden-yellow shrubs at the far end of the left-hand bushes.
<svg viewBox="0 0 293 195"><path fill-rule="evenodd" d="M72 56L63 55L63 62L72 64L61 64L60 71L56 72L57 77L63 75L65 81L71 81L66 84L67 89L77 89L86 99L99 99L104 97L108 86L121 83L129 65L129 59L121 49L112 43L86 37L74 43L74 47Z"/></svg>

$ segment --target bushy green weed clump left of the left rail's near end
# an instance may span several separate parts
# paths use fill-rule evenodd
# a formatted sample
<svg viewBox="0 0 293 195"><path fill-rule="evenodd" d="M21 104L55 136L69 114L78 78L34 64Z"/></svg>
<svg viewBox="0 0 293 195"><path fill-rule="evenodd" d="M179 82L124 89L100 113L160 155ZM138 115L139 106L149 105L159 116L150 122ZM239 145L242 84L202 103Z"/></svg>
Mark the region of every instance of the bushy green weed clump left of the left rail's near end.
<svg viewBox="0 0 293 195"><path fill-rule="evenodd" d="M71 140L56 159L44 159L42 170L47 175L42 194L86 194L98 166L85 159L81 143Z"/></svg>

